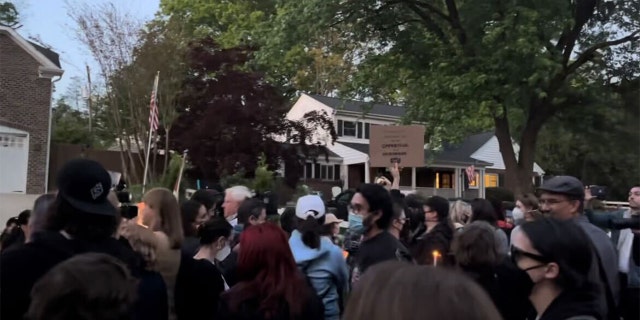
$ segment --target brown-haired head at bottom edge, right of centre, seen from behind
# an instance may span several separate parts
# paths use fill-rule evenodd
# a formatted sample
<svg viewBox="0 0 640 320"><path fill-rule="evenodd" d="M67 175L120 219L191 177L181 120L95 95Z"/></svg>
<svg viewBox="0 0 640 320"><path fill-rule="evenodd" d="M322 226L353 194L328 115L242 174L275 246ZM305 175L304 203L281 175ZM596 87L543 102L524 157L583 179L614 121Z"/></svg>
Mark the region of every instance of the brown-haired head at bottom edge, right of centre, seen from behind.
<svg viewBox="0 0 640 320"><path fill-rule="evenodd" d="M349 297L343 320L361 319L487 320L501 317L482 288L457 272L387 261L372 266Z"/></svg>

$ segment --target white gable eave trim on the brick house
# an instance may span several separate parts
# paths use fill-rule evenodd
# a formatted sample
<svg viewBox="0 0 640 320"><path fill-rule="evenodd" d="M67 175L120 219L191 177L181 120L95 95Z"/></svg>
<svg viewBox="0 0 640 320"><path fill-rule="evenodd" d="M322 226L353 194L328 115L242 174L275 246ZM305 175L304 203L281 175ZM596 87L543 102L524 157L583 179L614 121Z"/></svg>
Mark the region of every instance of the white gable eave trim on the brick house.
<svg viewBox="0 0 640 320"><path fill-rule="evenodd" d="M41 78L53 78L62 76L64 73L60 68L60 59L57 53L25 40L12 28L0 25L0 34L8 35L22 50L38 61L40 64L38 73Z"/></svg>

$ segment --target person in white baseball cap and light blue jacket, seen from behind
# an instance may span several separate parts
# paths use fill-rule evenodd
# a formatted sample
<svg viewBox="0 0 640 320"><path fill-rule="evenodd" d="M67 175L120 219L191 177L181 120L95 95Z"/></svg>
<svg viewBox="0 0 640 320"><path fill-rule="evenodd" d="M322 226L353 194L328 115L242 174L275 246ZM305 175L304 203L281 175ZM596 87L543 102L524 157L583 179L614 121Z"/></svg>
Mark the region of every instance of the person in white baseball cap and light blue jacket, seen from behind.
<svg viewBox="0 0 640 320"><path fill-rule="evenodd" d="M325 213L319 196L300 197L296 203L297 228L291 233L289 246L296 265L322 299L325 319L338 320L349 272L342 250L329 237L321 236Z"/></svg>

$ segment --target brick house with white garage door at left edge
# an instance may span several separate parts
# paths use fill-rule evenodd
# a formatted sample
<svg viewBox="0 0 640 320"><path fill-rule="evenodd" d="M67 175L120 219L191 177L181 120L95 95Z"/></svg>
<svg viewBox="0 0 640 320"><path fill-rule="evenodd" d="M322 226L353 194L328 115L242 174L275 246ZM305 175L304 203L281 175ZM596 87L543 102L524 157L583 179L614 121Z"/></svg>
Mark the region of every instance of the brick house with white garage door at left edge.
<svg viewBox="0 0 640 320"><path fill-rule="evenodd" d="M0 194L47 190L58 54L0 26Z"/></svg>

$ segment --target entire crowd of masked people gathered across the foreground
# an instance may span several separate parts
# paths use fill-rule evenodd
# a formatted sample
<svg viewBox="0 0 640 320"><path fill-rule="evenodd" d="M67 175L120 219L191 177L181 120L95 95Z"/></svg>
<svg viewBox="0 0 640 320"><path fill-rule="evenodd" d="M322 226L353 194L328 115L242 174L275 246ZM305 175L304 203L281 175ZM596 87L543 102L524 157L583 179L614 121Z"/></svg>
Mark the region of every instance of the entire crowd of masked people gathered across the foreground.
<svg viewBox="0 0 640 320"><path fill-rule="evenodd" d="M152 189L127 219L107 171L70 161L7 222L0 318L640 319L640 231L610 223L640 214L640 186L628 210L585 214L574 177L505 208L404 196L390 172L355 190L342 232L319 196L273 219L244 186Z"/></svg>

